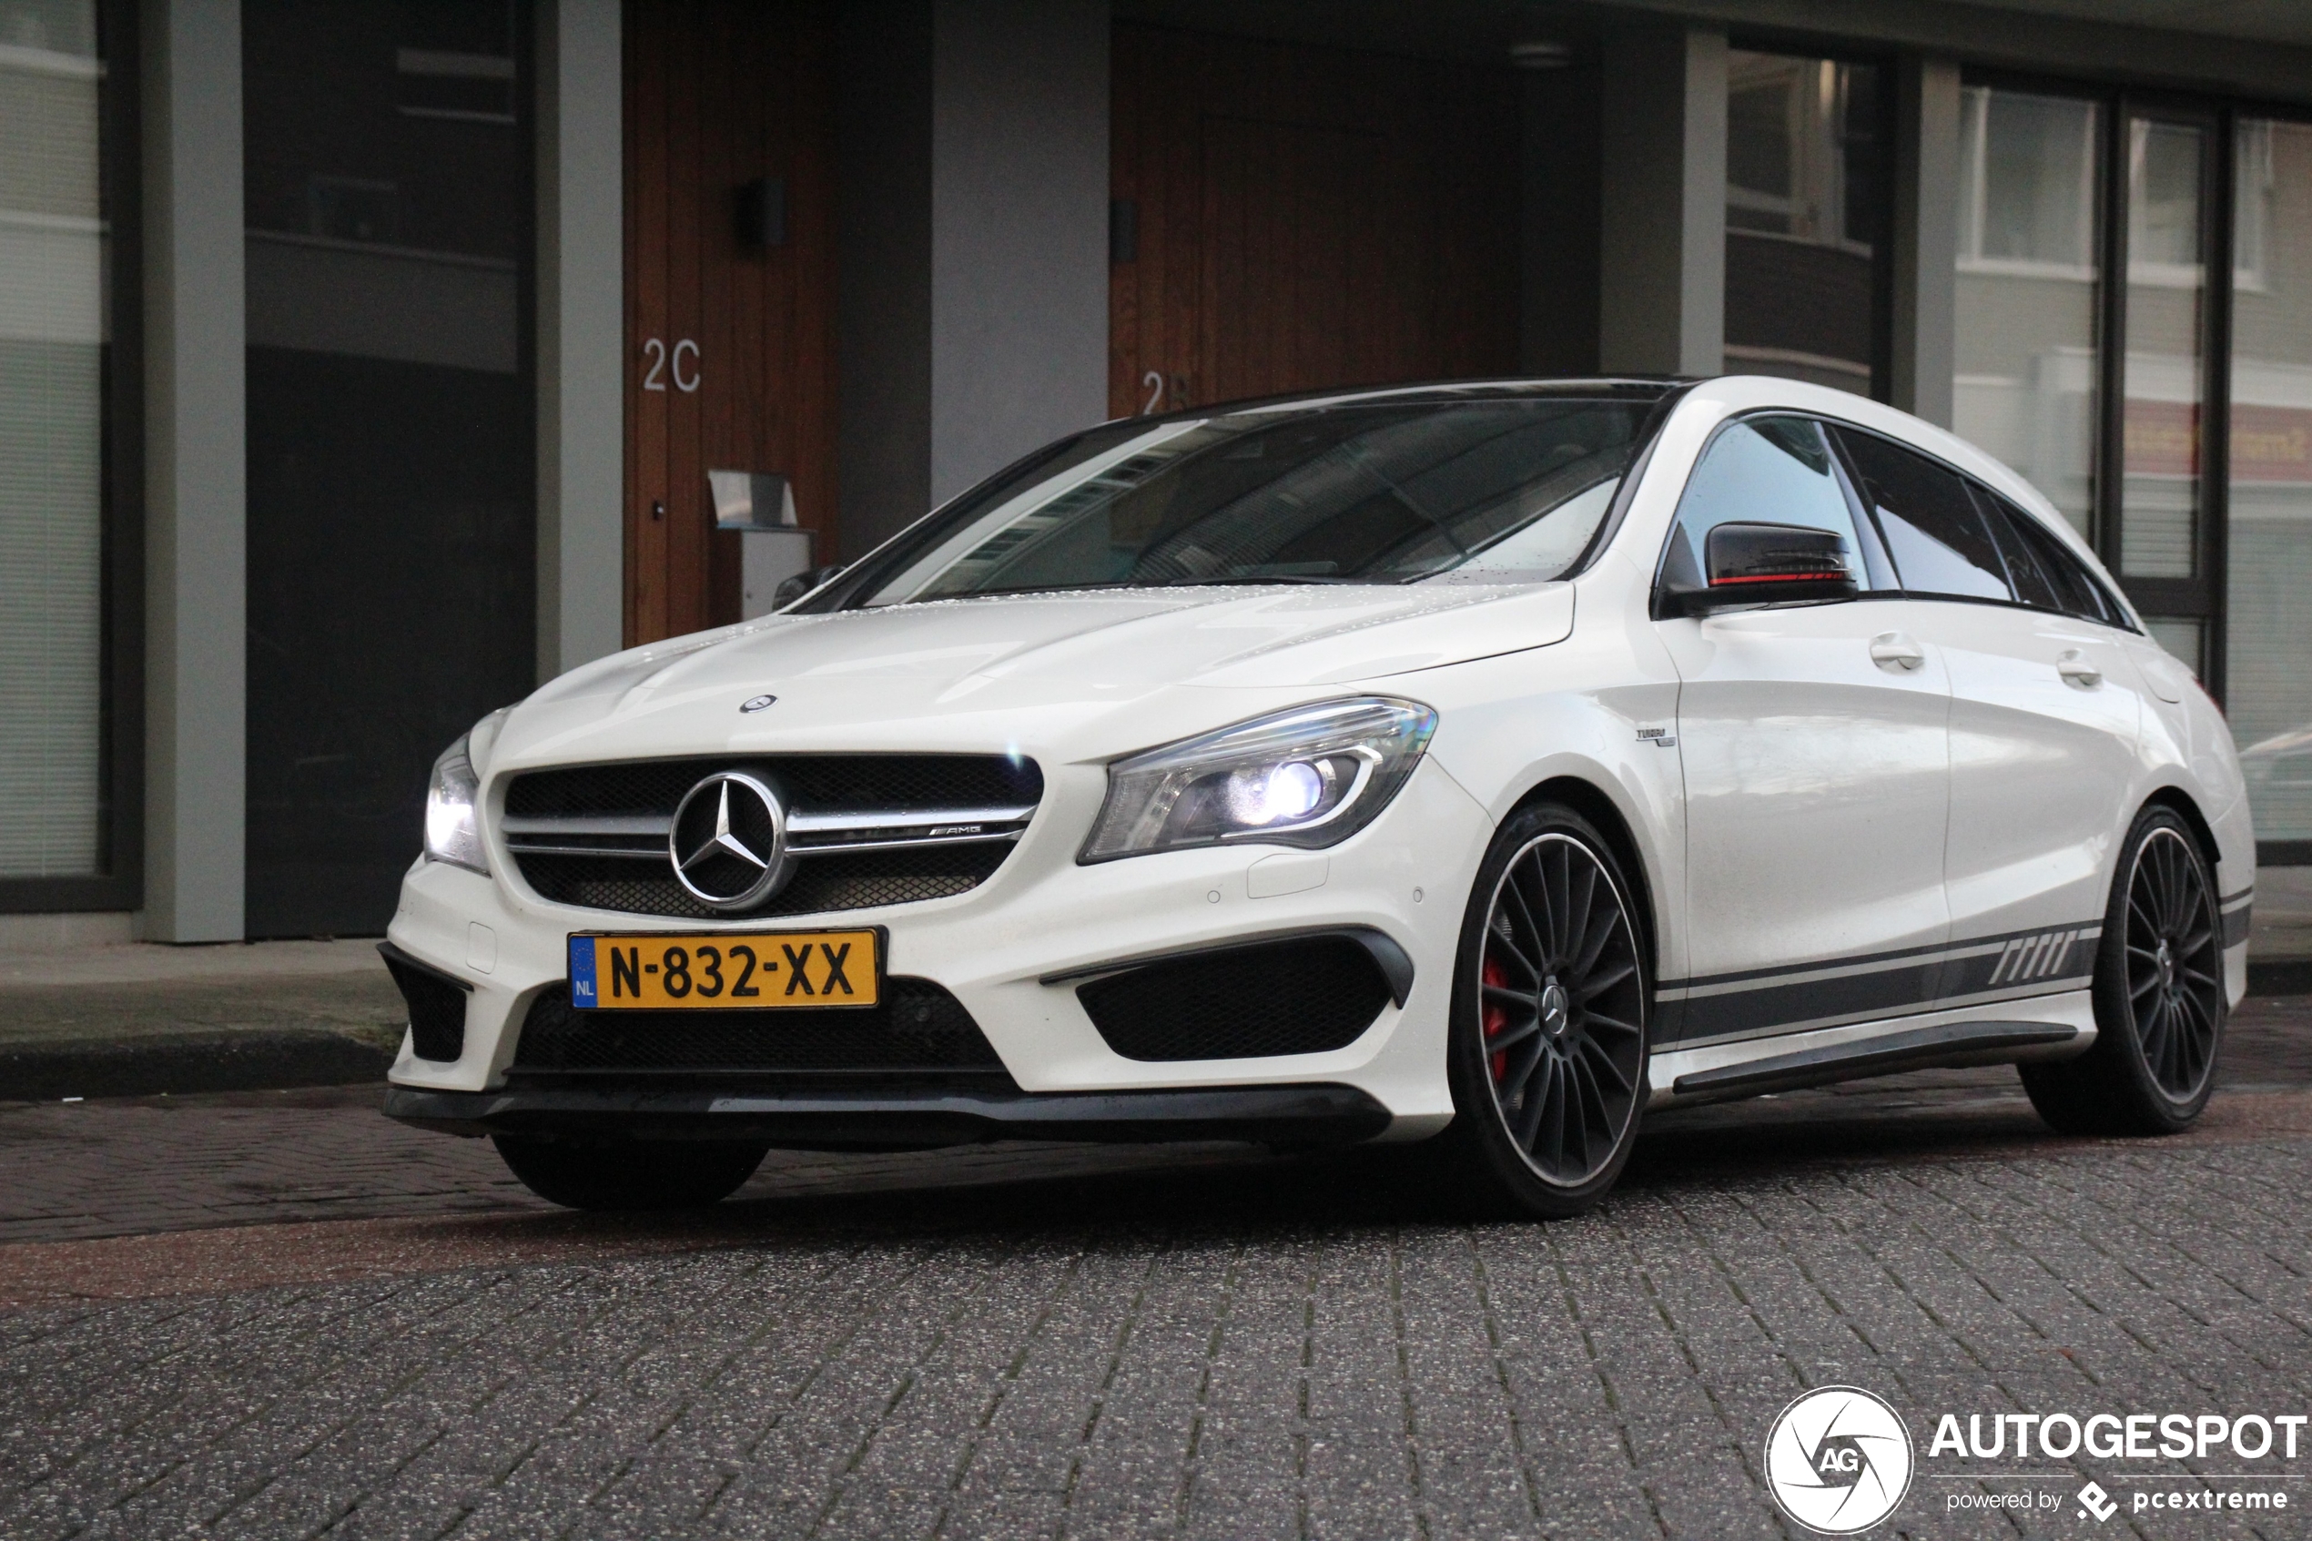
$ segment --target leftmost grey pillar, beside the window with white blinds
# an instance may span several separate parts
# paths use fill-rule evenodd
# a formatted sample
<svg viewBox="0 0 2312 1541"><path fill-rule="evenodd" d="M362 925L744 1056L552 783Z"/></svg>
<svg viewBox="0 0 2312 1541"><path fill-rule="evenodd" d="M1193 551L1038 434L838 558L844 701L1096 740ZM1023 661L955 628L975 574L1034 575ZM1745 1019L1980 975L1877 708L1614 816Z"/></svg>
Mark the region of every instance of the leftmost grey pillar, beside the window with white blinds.
<svg viewBox="0 0 2312 1541"><path fill-rule="evenodd" d="M240 5L146 0L146 917L243 933L247 328Z"/></svg>

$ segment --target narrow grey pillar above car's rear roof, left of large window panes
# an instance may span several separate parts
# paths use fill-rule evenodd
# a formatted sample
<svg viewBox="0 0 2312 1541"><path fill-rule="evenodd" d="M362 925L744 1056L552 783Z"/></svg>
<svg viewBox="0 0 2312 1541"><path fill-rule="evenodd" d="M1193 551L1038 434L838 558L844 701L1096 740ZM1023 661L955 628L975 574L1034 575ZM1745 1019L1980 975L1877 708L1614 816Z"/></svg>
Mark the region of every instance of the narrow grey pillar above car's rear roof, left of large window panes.
<svg viewBox="0 0 2312 1541"><path fill-rule="evenodd" d="M1958 65L1896 62L1894 404L1951 425L1958 326Z"/></svg>

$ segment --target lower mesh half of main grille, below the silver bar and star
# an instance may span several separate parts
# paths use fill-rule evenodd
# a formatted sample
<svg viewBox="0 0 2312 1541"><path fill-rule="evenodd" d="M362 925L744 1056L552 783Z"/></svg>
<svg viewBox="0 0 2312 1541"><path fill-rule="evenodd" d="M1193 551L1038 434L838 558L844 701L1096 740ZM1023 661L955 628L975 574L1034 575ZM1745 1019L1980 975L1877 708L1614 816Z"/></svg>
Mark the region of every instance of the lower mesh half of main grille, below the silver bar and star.
<svg viewBox="0 0 2312 1541"><path fill-rule="evenodd" d="M976 889L1010 855L1010 841L978 846L922 846L916 850L858 850L809 857L795 876L749 915L821 915L865 910L879 903L916 903ZM590 910L631 915L680 915L684 920L731 920L710 910L675 883L666 862L633 857L518 857L523 878L539 899Z"/></svg>

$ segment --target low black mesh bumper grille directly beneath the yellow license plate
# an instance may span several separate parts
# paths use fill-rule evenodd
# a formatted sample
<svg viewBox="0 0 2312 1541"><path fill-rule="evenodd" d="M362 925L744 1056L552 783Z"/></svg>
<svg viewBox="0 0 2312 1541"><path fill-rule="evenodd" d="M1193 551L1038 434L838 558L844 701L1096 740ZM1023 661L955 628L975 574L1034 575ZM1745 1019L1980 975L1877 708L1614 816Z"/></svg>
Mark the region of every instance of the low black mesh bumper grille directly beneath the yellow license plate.
<svg viewBox="0 0 2312 1541"><path fill-rule="evenodd" d="M885 980L883 1003L772 1012L576 1012L566 989L529 1007L523 1072L955 1074L1010 1086L964 1003L929 980Z"/></svg>

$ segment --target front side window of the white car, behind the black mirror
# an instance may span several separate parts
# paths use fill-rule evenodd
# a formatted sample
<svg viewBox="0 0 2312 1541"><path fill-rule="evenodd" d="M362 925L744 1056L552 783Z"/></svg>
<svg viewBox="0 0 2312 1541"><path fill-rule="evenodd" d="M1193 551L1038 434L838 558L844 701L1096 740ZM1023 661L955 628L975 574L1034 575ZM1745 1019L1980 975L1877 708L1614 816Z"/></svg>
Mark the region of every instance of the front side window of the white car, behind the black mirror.
<svg viewBox="0 0 2312 1541"><path fill-rule="evenodd" d="M1662 552L1665 587L1704 587L1704 541L1718 524L1829 529L1845 543L1854 585L1873 587L1845 478L1822 425L1810 418L1743 418L1711 439L1679 499L1679 522Z"/></svg>

